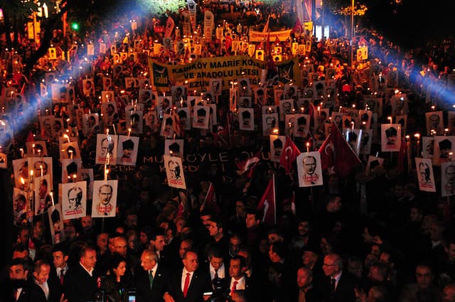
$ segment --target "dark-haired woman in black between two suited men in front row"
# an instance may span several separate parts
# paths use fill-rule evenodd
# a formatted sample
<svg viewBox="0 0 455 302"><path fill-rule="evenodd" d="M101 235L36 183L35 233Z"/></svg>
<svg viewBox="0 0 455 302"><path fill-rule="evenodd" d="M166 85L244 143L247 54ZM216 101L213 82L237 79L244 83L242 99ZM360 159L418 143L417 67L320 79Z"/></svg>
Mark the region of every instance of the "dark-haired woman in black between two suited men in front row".
<svg viewBox="0 0 455 302"><path fill-rule="evenodd" d="M112 254L108 260L106 276L101 281L101 289L110 301L127 301L127 290L131 287L126 280L127 260L119 254Z"/></svg>

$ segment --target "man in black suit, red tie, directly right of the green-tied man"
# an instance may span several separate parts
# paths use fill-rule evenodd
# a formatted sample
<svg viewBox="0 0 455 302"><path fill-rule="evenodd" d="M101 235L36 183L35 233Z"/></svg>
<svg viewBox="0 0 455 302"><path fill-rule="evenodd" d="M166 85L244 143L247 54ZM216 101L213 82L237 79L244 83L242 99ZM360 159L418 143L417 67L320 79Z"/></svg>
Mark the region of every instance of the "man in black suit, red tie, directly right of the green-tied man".
<svg viewBox="0 0 455 302"><path fill-rule="evenodd" d="M188 251L183 256L183 270L176 271L168 281L168 291L164 293L166 302L199 302L206 301L212 291L210 276L198 270L198 254Z"/></svg>

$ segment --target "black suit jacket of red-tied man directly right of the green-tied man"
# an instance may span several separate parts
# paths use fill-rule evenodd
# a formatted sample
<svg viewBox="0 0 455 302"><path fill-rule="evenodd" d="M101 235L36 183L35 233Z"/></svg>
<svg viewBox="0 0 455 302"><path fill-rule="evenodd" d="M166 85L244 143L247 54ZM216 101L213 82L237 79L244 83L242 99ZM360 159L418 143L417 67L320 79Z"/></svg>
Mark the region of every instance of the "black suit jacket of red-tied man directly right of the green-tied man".
<svg viewBox="0 0 455 302"><path fill-rule="evenodd" d="M210 275L202 270L194 271L186 297L183 296L181 282L182 270L179 269L171 275L167 290L176 302L201 302L203 301L204 292L213 291L210 283Z"/></svg>

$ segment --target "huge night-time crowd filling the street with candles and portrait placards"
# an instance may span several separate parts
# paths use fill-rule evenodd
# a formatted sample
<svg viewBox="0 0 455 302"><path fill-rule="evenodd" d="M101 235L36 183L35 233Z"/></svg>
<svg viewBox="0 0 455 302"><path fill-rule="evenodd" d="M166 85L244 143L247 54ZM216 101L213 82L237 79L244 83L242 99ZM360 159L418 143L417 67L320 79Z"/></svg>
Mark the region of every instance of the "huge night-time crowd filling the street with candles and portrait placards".
<svg viewBox="0 0 455 302"><path fill-rule="evenodd" d="M226 14L240 11L235 23L217 24L234 40L247 37L248 27L237 23L252 18L250 9L259 23L267 22L259 7L234 6L228 4ZM173 18L176 31L185 27L183 16ZM454 41L404 51L363 29L355 48L368 46L369 58L358 55L352 65L349 41L342 37L321 43L306 33L268 41L263 48L257 43L256 49L275 54L279 48L284 62L297 57L301 82L279 82L281 63L268 62L268 87L247 77L236 87L216 82L198 91L203 97L192 104L196 92L192 95L184 82L172 82L164 93L152 87L149 58L183 65L254 54L249 48L233 50L215 33L204 43L201 39L197 54L186 49L183 34L171 35L175 48L156 51L158 41L165 44L166 20L146 20L129 14L111 24L90 16L86 27L98 31L65 37L55 31L55 53L41 58L30 77L21 74L21 62L36 45L24 38L16 52L1 47L0 164L14 174L15 192L23 194L14 195L21 196L14 199L16 242L1 271L0 301L455 301L455 191L449 190L455 173L442 171L423 137L433 137L431 146L442 154L444 137L450 143L455 133L448 110ZM200 11L196 20L203 20ZM200 26L195 31L202 36ZM305 45L304 53L293 50L293 38ZM235 108L232 99L238 100ZM179 114L184 108L187 114ZM299 113L293 129L288 117ZM194 126L198 114L210 122ZM263 119L265 114L270 119ZM382 134L381 124L392 121L401 129L390 127ZM317 151L334 131L332 122L368 168L355 167L348 176L327 169L316 176L316 158L306 156L311 185L303 188L296 164L290 171L280 165L286 148L279 134L300 151ZM361 134L362 129L370 141L360 147L354 130ZM114 144L108 137L97 142L97 134L105 133L130 138L119 144L122 165L109 166ZM176 144L178 139L183 145ZM390 141L398 152L381 148ZM98 143L107 163L98 161ZM178 177L186 179L186 189L168 186L163 156L169 152L181 157ZM36 165L24 159L40 156L50 160ZM420 171L414 157L432 158L434 166L422 163L427 166ZM253 168L247 166L252 158L257 158ZM18 160L22 168L13 163ZM41 178L52 175L36 187L35 202L43 200L43 206L34 208L24 197L30 194L24 179L31 171ZM58 192L73 175L74 182L118 180L117 194L111 183L91 192L90 185L71 188L70 202L80 202L85 192L92 198L85 197L83 217L64 220L58 230L55 222L62 217L54 219L48 211L65 197L61 191L58 198L46 193L51 187ZM269 223L263 219L267 208L258 205L272 176L276 219ZM420 177L430 186L432 178L434 190L423 192ZM95 208L109 217L92 217L95 195L100 196ZM113 209L109 203L115 198Z"/></svg>

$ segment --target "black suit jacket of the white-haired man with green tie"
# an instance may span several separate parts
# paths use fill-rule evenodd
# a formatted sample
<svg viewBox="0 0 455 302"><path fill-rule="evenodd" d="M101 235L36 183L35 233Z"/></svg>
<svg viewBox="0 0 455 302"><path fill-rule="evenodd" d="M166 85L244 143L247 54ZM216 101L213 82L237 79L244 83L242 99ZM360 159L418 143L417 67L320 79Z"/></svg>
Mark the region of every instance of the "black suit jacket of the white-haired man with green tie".
<svg viewBox="0 0 455 302"><path fill-rule="evenodd" d="M156 271L153 285L150 288L149 283L149 272L140 269L136 273L135 284L136 284L136 301L155 301L162 302L164 292L167 288L167 283L170 278L170 272L166 267L159 264L158 271Z"/></svg>

